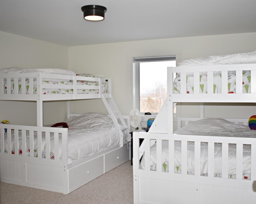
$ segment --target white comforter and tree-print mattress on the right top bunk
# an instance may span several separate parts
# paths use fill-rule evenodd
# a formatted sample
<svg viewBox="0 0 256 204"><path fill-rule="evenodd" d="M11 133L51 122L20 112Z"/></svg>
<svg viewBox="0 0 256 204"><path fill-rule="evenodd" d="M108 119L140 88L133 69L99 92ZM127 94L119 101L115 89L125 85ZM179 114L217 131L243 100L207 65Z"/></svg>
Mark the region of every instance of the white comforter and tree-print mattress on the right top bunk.
<svg viewBox="0 0 256 204"><path fill-rule="evenodd" d="M183 68L186 69L186 93L194 93L194 69L198 68L199 77L197 84L199 85L198 93L208 93L208 71L212 72L213 78L210 79L213 83L213 93L237 93L237 77L238 73L236 70L241 72L240 78L242 85L242 91L239 93L251 93L251 70L255 69L256 63L256 51L250 53L237 53L231 55L216 55L210 57L200 57L200 58L193 58L193 59L185 59L178 63L178 67L176 70L182 70ZM251 65L245 66L246 65ZM216 65L216 66L215 66ZM225 70L225 65L228 69ZM240 65L234 66L234 69L230 69L232 65ZM196 67L196 68L195 68ZM191 71L188 71L190 70ZM216 70L215 70L216 69ZM226 75L223 74L222 71L227 71ZM223 78L226 77L225 84L223 84ZM226 89L222 89L222 86L226 86ZM177 72L177 77L174 79L174 93L181 93L181 73ZM225 90L225 91L223 91Z"/></svg>

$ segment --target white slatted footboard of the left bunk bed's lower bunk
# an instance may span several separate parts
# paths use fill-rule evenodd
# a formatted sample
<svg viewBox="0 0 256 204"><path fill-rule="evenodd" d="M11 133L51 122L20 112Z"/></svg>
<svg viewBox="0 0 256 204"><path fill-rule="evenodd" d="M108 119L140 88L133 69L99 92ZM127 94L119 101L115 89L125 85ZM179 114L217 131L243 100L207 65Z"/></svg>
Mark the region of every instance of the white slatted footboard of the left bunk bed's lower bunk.
<svg viewBox="0 0 256 204"><path fill-rule="evenodd" d="M67 142L66 128L0 124L0 181L67 194Z"/></svg>

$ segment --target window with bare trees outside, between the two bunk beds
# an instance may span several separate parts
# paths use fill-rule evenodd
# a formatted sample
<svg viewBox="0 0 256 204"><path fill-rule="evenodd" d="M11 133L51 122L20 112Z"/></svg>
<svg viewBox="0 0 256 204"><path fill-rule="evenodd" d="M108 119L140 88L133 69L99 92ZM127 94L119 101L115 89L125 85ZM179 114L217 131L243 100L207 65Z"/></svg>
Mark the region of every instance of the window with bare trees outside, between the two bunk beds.
<svg viewBox="0 0 256 204"><path fill-rule="evenodd" d="M158 113L167 95L167 67L176 67L175 56L134 58L135 107L141 113Z"/></svg>

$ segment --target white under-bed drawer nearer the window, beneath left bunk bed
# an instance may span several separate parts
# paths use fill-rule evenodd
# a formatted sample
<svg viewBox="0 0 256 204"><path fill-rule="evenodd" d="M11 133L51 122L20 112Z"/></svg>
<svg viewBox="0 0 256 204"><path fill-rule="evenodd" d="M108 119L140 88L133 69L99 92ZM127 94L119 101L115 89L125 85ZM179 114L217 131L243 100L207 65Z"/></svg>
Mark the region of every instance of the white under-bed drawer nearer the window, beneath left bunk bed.
<svg viewBox="0 0 256 204"><path fill-rule="evenodd" d="M105 154L105 173L129 160L127 145Z"/></svg>

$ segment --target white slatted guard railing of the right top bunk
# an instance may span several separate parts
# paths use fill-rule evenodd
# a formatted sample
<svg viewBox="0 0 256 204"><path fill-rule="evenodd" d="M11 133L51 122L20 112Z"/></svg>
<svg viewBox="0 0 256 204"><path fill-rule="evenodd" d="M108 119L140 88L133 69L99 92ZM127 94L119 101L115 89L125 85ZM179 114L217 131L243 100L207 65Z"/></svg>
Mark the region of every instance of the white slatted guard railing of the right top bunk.
<svg viewBox="0 0 256 204"><path fill-rule="evenodd" d="M168 67L168 96L172 102L255 102L256 64Z"/></svg>

